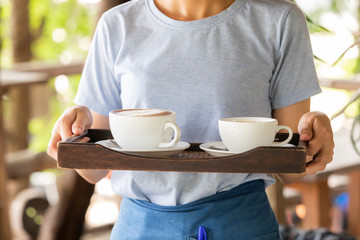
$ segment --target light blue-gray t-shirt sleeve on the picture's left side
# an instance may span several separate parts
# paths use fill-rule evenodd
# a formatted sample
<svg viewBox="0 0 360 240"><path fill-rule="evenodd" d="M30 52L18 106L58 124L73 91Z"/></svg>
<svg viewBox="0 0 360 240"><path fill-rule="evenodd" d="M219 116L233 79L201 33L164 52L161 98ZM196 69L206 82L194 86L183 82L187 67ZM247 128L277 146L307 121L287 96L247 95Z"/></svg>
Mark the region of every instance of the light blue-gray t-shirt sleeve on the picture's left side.
<svg viewBox="0 0 360 240"><path fill-rule="evenodd" d="M114 41L104 17L99 20L74 99L77 105L108 116L120 109L120 81L114 75ZM119 39L117 39L119 41Z"/></svg>

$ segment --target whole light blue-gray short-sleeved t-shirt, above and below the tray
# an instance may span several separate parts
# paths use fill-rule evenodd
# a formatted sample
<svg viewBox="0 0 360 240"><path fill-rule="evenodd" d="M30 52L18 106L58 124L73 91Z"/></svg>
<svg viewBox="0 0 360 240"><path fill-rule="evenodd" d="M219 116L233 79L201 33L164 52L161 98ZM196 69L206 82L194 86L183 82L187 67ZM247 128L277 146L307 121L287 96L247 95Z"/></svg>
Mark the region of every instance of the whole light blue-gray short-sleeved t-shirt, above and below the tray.
<svg viewBox="0 0 360 240"><path fill-rule="evenodd" d="M132 0L100 19L75 103L177 114L182 141L220 140L217 120L271 117L321 91L305 18L282 0L236 0L197 21L177 21L153 0ZM90 159L89 159L90 161ZM267 174L114 171L118 194L179 205Z"/></svg>

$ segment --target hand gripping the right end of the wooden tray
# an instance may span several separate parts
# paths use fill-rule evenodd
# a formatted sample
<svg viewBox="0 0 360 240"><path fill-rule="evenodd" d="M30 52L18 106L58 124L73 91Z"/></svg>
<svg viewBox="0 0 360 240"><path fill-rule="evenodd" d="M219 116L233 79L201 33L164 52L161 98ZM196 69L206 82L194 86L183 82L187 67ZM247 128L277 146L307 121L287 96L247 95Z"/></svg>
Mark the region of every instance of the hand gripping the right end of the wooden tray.
<svg viewBox="0 0 360 240"><path fill-rule="evenodd" d="M321 112L305 113L299 121L298 131L308 155L306 174L324 170L332 161L335 146L329 118Z"/></svg>

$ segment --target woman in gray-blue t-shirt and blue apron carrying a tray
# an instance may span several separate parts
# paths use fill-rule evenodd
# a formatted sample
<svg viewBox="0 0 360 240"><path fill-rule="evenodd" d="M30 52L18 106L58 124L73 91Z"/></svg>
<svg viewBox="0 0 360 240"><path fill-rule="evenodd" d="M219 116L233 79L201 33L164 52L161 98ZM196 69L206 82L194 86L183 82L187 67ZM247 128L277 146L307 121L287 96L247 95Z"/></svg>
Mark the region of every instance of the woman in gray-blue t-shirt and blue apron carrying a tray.
<svg viewBox="0 0 360 240"><path fill-rule="evenodd" d="M77 106L56 123L48 152L56 158L60 140L108 129L113 109L173 110L187 142L218 141L220 118L262 116L308 141L312 174L331 161L334 146L328 118L309 112L319 92L306 21L293 3L133 0L100 19ZM91 183L107 174L77 171ZM279 239L264 191L274 181L268 174L114 171L123 200L111 238L197 239L201 226L208 239Z"/></svg>

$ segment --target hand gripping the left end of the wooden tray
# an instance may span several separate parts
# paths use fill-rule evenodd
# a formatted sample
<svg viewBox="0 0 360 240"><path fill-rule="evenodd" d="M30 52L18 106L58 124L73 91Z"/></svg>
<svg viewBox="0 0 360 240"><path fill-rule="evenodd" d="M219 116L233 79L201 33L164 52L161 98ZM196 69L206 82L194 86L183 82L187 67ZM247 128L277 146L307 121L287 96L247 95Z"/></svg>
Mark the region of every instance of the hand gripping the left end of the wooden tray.
<svg viewBox="0 0 360 240"><path fill-rule="evenodd" d="M67 108L55 123L47 153L57 160L58 143L73 135L81 135L92 124L93 117L87 107L75 105ZM86 142L88 139L82 141Z"/></svg>

